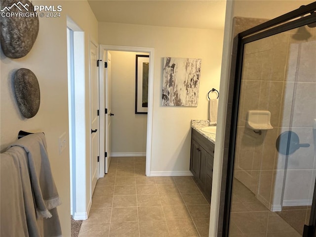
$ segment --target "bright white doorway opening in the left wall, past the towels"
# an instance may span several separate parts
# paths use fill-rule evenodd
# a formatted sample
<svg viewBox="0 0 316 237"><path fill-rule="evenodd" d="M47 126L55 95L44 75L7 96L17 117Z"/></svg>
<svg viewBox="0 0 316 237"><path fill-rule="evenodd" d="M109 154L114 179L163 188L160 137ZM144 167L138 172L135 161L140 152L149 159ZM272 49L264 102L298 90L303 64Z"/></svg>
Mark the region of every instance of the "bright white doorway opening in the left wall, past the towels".
<svg viewBox="0 0 316 237"><path fill-rule="evenodd" d="M81 199L76 193L85 190L85 119L84 96L84 32L67 17L67 60L68 60L68 107L69 107L69 150L70 150L70 196L71 215L75 220L87 218L80 211ZM75 85L76 82L76 85ZM82 209L83 210L83 209Z"/></svg>

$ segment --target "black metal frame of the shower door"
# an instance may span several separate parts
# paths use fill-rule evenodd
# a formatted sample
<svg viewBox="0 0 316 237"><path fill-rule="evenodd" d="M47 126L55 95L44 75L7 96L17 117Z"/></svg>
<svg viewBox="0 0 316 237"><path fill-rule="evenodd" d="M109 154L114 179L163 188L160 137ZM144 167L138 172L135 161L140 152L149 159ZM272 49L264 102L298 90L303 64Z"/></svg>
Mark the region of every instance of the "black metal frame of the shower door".
<svg viewBox="0 0 316 237"><path fill-rule="evenodd" d="M234 179L234 161L235 161L235 148L236 148L236 135L237 135L237 119L238 119L238 105L240 96L240 82L242 75L242 63L243 63L243 50L244 45L259 39L263 39L269 36L276 35L278 33L295 29L316 21L316 13L308 16L304 16L308 13L316 11L316 2L312 2L306 6L288 12L284 15L269 20L263 24L250 28L238 34L238 49L237 49L237 62L236 62L236 76L234 84L234 97L233 97L233 111L231 117L231 131L230 131L230 143L228 151L228 168L227 168L227 183L225 191L225 203L224 203L224 217L223 217L223 236L229 236L230 226L230 210L232 201L232 189ZM300 18L298 18L300 17ZM298 19L296 19L298 18ZM296 19L296 20L294 20ZM310 217L310 229L307 227L307 231L304 232L304 237L316 236L316 190L314 190L312 211ZM307 233L308 232L308 233Z"/></svg>

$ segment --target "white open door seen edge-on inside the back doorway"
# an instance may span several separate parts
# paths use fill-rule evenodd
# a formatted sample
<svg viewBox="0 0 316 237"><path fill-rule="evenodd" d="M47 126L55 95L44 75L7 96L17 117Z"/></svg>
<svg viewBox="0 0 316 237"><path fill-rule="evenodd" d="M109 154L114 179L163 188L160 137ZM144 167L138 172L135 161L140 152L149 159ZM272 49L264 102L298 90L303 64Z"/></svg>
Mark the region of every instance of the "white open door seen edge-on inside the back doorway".
<svg viewBox="0 0 316 237"><path fill-rule="evenodd" d="M105 62L105 173L108 173L109 166L111 162L111 116L114 115L111 113L111 53L108 50L105 50L103 54L103 61Z"/></svg>

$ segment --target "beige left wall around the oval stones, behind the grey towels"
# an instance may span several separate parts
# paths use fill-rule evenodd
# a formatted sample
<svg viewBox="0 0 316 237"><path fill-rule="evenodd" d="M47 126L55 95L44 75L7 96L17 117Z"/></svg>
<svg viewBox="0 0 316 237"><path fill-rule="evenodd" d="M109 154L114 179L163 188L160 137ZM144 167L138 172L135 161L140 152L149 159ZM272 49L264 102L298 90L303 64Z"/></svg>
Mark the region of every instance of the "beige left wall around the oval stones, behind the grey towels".
<svg viewBox="0 0 316 237"><path fill-rule="evenodd" d="M53 177L63 203L58 207L62 232L63 236L70 236L69 147L67 146L61 154L58 152L59 136L66 132L68 140L66 16L69 15L85 31L86 55L89 54L89 35L96 41L98 40L98 23L87 1L33 1L33 4L62 5L61 17L40 18L38 38L30 53L25 57L10 59L5 57L1 51L1 151L17 139L20 130L45 133ZM38 114L31 119L21 116L12 90L12 77L19 68L32 70L40 84L40 109ZM86 57L87 88L88 71L88 58ZM89 97L87 91L84 96ZM88 106L89 101L86 99L86 111L89 111ZM89 113L86 113L86 116L88 117ZM88 131L88 123L86 125ZM86 146L86 157L89 157L88 140Z"/></svg>

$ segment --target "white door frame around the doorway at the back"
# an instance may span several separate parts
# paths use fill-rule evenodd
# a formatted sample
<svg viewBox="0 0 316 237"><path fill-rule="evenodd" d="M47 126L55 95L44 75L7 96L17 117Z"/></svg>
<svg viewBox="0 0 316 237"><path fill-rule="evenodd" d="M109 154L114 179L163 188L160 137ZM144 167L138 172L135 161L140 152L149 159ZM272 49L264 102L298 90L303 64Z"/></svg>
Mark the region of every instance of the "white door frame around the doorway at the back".
<svg viewBox="0 0 316 237"><path fill-rule="evenodd" d="M151 176L151 160L152 160L152 134L153 134L153 100L154 100L154 58L155 48L152 47L131 47L131 46L114 46L99 45L99 59L103 58L104 52L108 51L127 51L127 52L145 52L149 53L149 77L148 77L148 114L147 114L147 142L146 142L146 176ZM104 62L103 62L104 63ZM102 64L103 64L102 63ZM101 64L101 65L102 65ZM104 65L104 64L103 64ZM104 88L103 68L99 68L99 85L100 85L100 111L105 111L105 95L102 91ZM105 113L100 113L100 154L105 153ZM105 157L102 155L99 162L99 178L105 174Z"/></svg>

